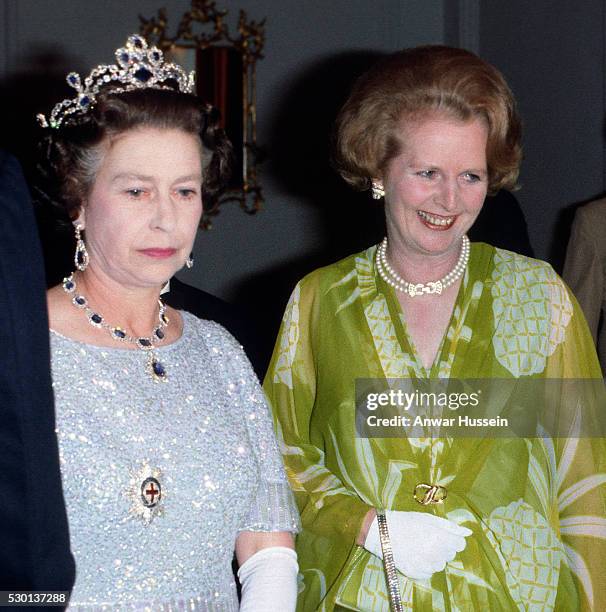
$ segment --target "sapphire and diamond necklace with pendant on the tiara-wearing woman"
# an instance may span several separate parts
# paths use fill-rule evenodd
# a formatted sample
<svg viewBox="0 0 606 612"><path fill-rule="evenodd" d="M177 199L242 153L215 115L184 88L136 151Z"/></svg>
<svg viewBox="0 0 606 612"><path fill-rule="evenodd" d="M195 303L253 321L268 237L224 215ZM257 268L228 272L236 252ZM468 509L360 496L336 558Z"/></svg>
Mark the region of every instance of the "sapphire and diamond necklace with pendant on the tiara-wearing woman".
<svg viewBox="0 0 606 612"><path fill-rule="evenodd" d="M88 322L93 326L100 329L105 329L109 332L109 335L118 342L129 342L130 344L136 345L142 351L148 354L146 371L156 382L166 382L166 368L158 360L154 354L154 346L164 340L164 328L169 323L169 318L166 316L166 305L162 300L158 299L158 325L154 327L150 336L129 336L121 327L109 325L105 322L105 319L98 313L95 312L89 305L88 300L81 294L76 293L76 281L74 280L74 274L70 274L67 278L63 279L63 290L65 293L74 294L72 297L72 304L84 310L88 318Z"/></svg>

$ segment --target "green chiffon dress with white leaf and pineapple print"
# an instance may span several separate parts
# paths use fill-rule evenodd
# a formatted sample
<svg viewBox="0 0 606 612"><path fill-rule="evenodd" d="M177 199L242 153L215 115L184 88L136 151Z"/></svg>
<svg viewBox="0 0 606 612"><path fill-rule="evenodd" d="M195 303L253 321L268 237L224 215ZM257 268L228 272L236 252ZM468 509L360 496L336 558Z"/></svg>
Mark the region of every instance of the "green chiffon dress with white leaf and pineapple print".
<svg viewBox="0 0 606 612"><path fill-rule="evenodd" d="M574 297L548 264L474 243L426 369L375 252L296 286L265 379L302 517L298 610L389 610L381 560L355 543L371 507L473 531L429 580L398 574L405 609L606 610L603 438L362 438L355 427L358 378L600 378ZM595 412L581 410L588 418ZM417 483L448 497L421 506Z"/></svg>

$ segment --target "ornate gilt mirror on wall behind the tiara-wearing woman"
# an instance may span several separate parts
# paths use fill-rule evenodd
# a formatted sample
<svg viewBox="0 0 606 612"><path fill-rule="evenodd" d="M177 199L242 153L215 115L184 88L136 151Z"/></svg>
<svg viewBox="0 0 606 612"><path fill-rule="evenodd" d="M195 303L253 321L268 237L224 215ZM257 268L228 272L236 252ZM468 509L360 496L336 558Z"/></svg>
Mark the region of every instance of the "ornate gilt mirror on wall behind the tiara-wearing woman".
<svg viewBox="0 0 606 612"><path fill-rule="evenodd" d="M150 43L184 68L196 71L198 95L219 109L222 127L234 145L232 180L217 203L205 208L204 229L211 227L212 217L225 202L239 202L248 214L256 213L263 204L257 176L261 156L257 146L256 62L263 57L265 19L248 21L241 10L238 35L231 36L226 15L215 2L192 0L191 10L181 17L174 36L168 33L165 8L155 17L139 17L139 31ZM200 31L203 28L211 31Z"/></svg>

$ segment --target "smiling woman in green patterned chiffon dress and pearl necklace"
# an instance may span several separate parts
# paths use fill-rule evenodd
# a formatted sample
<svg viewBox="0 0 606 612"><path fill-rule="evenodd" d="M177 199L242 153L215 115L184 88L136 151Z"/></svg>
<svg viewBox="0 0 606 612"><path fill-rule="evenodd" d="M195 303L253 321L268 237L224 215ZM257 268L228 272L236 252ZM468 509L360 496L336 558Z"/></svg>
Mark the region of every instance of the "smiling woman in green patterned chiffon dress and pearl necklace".
<svg viewBox="0 0 606 612"><path fill-rule="evenodd" d="M601 376L552 268L466 239L518 175L502 75L405 50L358 80L337 128L340 172L385 198L387 237L296 286L265 380L303 522L298 609L606 609L606 446L585 435L606 406L584 386L563 433L356 428L359 379Z"/></svg>

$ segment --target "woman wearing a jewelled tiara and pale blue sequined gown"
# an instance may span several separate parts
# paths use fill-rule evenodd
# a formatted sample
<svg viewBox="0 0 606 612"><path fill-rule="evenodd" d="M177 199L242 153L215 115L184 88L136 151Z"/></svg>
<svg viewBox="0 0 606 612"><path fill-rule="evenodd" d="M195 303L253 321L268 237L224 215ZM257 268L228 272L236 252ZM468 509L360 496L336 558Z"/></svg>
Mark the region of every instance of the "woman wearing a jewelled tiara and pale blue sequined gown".
<svg viewBox="0 0 606 612"><path fill-rule="evenodd" d="M263 393L219 325L160 292L190 252L229 144L193 76L133 35L55 106L41 185L73 220L48 292L70 605L294 609L291 499Z"/></svg>

